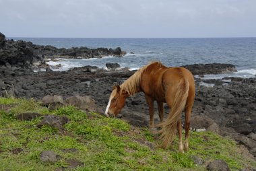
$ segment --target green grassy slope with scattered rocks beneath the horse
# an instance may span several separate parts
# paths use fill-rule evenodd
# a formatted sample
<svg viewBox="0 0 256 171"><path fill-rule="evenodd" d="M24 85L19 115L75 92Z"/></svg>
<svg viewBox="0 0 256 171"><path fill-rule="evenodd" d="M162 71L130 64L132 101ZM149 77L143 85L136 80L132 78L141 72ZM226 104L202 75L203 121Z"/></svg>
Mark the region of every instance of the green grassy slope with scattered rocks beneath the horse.
<svg viewBox="0 0 256 171"><path fill-rule="evenodd" d="M50 112L35 100L0 98L0 104L15 104L7 111L0 109L0 170L55 170L67 168L66 160L84 164L73 170L206 170L205 164L217 159L225 160L231 170L256 168L255 160L245 156L234 141L214 133L191 132L191 149L179 153L177 139L170 148L161 149L147 128L131 127L117 118L74 106ZM64 132L49 126L38 129L41 118L18 121L15 115L21 112L65 114L71 121ZM11 152L18 148L20 153ZM64 150L71 148L77 150ZM55 151L61 159L55 163L40 161L44 150ZM205 164L196 166L193 156Z"/></svg>

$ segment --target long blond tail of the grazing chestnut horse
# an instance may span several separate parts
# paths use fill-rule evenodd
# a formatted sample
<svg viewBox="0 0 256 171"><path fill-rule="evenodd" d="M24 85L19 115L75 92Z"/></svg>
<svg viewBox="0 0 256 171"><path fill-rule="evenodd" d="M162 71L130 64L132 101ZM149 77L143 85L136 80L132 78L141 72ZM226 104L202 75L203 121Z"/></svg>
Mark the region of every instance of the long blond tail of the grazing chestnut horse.
<svg viewBox="0 0 256 171"><path fill-rule="evenodd" d="M158 133L161 133L158 139L162 140L160 145L163 148L168 147L174 139L174 135L177 129L177 122L181 118L181 112L185 108L187 102L187 96L189 95L189 82L187 80L182 80L177 86L177 92L173 99L172 108L168 114L168 118L164 123L158 125L161 127Z"/></svg>

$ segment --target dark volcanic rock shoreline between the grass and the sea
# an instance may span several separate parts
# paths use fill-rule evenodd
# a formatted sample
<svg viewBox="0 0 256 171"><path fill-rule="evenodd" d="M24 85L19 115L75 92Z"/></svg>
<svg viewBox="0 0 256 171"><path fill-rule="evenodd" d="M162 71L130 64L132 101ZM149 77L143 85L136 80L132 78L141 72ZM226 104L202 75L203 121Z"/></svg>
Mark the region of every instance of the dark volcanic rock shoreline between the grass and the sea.
<svg viewBox="0 0 256 171"><path fill-rule="evenodd" d="M55 48L49 46L38 46L32 43L31 46L28 46L28 44L30 42L14 42L0 38L0 96L12 95L18 98L35 98L36 100L42 100L47 95L59 95L64 99L70 96L90 96L95 100L98 111L103 111L113 86L122 83L135 72L117 69L104 70L87 66L62 72L46 70L46 72L35 73L32 71L35 61L41 63L44 61L45 55L55 56L63 55L63 53L60 53L61 50L55 51ZM36 48L33 46L38 49L35 50ZM48 51L51 53L45 53L46 51L42 53L42 49L47 48L51 49ZM72 49L79 52L84 48ZM112 53L111 50L100 49L102 53L91 56L84 55L84 57L102 57L102 54ZM120 52L121 48L118 51ZM83 56L82 53L67 53L66 55L70 57ZM121 53L117 56L120 57ZM236 71L234 65L228 64L183 67L187 67L193 74L202 77L208 73ZM226 81L227 79L228 81ZM215 86L206 87L201 83L214 83ZM191 127L232 137L238 143L245 145L253 156L256 156L256 78L230 77L207 80L197 77L195 84L196 97ZM155 120L159 122L157 111L155 105ZM164 107L164 112L167 116L167 106ZM148 126L148 105L142 93L127 99L120 118L137 127Z"/></svg>

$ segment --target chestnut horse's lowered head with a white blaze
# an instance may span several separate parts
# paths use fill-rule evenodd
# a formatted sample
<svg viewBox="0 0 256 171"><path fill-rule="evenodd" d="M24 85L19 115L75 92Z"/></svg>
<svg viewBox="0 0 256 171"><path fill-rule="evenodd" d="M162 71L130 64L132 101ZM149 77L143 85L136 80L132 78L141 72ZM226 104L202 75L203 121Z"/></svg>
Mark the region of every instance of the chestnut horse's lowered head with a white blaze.
<svg viewBox="0 0 256 171"><path fill-rule="evenodd" d="M105 115L109 116L108 114L113 114L114 116L117 116L117 114L121 112L123 106L125 106L125 100L127 97L128 93L125 90L122 90L120 86L115 86L110 94Z"/></svg>

